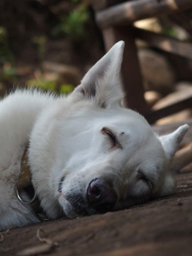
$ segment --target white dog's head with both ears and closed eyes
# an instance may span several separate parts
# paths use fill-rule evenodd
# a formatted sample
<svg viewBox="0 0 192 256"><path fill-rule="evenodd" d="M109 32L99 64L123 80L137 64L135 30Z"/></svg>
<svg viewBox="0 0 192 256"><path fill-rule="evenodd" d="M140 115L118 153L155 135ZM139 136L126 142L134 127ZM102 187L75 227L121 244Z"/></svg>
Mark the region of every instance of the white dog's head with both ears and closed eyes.
<svg viewBox="0 0 192 256"><path fill-rule="evenodd" d="M67 98L67 121L57 123L53 184L70 218L173 193L168 169L188 125L158 136L141 115L122 107L123 47L118 42L84 76Z"/></svg>

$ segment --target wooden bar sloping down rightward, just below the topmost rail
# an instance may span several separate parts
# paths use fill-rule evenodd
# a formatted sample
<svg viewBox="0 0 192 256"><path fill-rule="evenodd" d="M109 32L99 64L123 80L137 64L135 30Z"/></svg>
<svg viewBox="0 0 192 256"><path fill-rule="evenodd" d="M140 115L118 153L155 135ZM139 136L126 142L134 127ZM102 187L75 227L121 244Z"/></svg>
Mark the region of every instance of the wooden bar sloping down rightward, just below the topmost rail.
<svg viewBox="0 0 192 256"><path fill-rule="evenodd" d="M192 59L192 44L190 42L182 42L173 37L138 28L135 28L135 36L147 41L153 47Z"/></svg>

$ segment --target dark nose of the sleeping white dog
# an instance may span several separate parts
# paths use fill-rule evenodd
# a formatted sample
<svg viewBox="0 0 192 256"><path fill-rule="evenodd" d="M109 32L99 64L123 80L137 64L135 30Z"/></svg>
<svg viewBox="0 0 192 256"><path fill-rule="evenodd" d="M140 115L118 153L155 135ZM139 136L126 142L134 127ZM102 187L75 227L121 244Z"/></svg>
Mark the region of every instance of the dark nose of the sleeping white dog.
<svg viewBox="0 0 192 256"><path fill-rule="evenodd" d="M113 209L117 201L117 194L109 182L96 178L89 183L87 200L90 207L102 214Z"/></svg>

